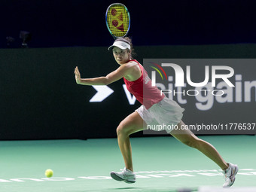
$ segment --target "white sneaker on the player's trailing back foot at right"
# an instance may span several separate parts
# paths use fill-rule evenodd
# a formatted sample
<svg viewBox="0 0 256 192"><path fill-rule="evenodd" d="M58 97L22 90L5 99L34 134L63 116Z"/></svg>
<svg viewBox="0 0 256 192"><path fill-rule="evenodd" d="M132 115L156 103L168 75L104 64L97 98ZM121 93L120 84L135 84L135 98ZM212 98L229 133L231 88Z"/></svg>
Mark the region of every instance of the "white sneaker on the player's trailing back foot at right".
<svg viewBox="0 0 256 192"><path fill-rule="evenodd" d="M223 184L223 187L230 187L234 183L237 172L238 166L228 163L228 168L223 170L223 174L225 175L225 183Z"/></svg>

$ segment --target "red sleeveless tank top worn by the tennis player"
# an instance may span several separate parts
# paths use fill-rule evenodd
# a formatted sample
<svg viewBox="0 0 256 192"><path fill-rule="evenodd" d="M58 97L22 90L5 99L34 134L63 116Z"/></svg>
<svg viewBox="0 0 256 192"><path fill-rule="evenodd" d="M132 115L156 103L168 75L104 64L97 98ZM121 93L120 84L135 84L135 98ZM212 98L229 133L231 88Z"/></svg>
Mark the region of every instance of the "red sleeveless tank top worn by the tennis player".
<svg viewBox="0 0 256 192"><path fill-rule="evenodd" d="M145 108L151 108L152 105L160 102L165 95L162 94L157 87L152 87L151 79L148 77L148 73L145 71L143 66L136 60L131 61L137 62L141 69L142 76L136 81L128 81L123 77L123 81L126 84L127 90L136 97L136 99L145 106Z"/></svg>

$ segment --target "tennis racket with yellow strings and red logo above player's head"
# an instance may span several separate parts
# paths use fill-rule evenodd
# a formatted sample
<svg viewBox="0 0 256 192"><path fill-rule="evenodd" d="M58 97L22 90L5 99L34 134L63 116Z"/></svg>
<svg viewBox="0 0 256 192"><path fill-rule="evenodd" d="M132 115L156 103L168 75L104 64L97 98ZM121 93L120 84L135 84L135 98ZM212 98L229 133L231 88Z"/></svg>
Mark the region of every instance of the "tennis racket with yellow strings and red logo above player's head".
<svg viewBox="0 0 256 192"><path fill-rule="evenodd" d="M125 37L130 29L130 14L126 6L121 3L109 5L105 23L114 39Z"/></svg>

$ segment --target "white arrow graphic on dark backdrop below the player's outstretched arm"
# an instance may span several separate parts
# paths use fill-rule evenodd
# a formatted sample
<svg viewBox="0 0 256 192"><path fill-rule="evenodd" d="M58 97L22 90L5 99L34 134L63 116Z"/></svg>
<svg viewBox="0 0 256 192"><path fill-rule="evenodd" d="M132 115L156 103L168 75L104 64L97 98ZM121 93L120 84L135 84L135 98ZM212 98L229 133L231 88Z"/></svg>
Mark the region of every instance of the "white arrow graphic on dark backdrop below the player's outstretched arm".
<svg viewBox="0 0 256 192"><path fill-rule="evenodd" d="M93 85L93 88L97 93L90 99L90 102L102 102L114 92L114 90L111 90L111 88L106 85Z"/></svg>

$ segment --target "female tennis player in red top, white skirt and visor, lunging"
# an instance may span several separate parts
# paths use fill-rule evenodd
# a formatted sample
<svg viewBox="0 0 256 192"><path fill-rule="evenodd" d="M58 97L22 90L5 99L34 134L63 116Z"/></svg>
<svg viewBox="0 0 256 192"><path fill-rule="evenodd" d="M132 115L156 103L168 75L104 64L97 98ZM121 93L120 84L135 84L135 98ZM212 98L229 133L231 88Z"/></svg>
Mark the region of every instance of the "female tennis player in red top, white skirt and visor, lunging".
<svg viewBox="0 0 256 192"><path fill-rule="evenodd" d="M117 140L123 155L125 167L122 172L111 172L111 177L126 183L136 182L133 172L132 148L130 135L146 129L147 124L177 125L178 129L166 130L175 139L192 148L197 148L211 160L218 164L225 175L223 187L230 187L235 181L238 166L227 163L218 151L208 142L197 138L190 130L183 130L181 120L184 111L175 101L161 95L157 87L151 86L151 79L143 66L132 58L133 44L130 38L117 38L114 44L108 47L112 50L114 59L119 67L105 77L81 78L78 67L75 68L75 80L81 85L108 85L123 78L127 89L136 96L142 104L136 111L128 115L117 126ZM143 93L144 92L144 93Z"/></svg>

